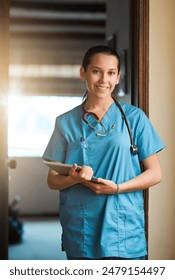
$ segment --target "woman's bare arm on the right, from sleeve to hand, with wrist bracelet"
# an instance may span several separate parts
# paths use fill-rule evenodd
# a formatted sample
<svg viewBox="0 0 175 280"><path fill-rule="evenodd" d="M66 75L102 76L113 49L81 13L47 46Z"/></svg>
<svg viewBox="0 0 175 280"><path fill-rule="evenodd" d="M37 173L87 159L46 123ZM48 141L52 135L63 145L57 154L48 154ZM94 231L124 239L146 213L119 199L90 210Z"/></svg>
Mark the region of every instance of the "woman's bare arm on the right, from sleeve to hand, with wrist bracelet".
<svg viewBox="0 0 175 280"><path fill-rule="evenodd" d="M143 160L144 172L137 177L126 181L118 182L119 190L117 185L110 180L104 180L98 178L97 183L86 182L85 185L92 189L96 194L115 194L132 192L138 190L147 189L153 185L158 184L162 178L161 166L157 154L153 154L150 157Z"/></svg>

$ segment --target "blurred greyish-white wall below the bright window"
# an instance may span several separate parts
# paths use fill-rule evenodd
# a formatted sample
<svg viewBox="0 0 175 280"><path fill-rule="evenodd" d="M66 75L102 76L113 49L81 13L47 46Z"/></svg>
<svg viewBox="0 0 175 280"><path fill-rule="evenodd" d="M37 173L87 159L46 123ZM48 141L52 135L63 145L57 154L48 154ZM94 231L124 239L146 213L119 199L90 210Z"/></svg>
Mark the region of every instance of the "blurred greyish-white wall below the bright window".
<svg viewBox="0 0 175 280"><path fill-rule="evenodd" d="M13 158L14 159L14 158ZM41 158L15 158L16 169L9 169L9 201L21 196L21 214L58 213L59 192L47 187L48 167Z"/></svg>

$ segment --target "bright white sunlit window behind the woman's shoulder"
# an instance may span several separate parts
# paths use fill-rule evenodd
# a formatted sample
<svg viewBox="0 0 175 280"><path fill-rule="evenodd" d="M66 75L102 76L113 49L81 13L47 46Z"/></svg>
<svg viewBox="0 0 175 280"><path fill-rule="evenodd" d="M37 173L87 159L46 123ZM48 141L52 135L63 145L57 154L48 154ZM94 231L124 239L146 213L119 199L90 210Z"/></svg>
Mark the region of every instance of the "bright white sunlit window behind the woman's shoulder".
<svg viewBox="0 0 175 280"><path fill-rule="evenodd" d="M55 118L82 103L82 97L9 96L8 155L42 156Z"/></svg>

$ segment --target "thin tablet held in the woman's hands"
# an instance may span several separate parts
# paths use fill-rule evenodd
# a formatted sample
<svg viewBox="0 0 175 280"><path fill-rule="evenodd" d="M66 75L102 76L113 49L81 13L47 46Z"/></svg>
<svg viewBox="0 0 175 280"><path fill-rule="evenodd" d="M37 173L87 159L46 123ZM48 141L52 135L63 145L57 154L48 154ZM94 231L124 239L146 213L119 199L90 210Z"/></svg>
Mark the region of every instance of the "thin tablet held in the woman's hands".
<svg viewBox="0 0 175 280"><path fill-rule="evenodd" d="M54 171L58 172L59 174L65 175L65 176L69 175L70 168L72 167L72 165L70 165L70 164L61 163L59 161L43 160L43 163L45 165L47 165L49 168L51 168ZM80 171L81 170L81 166L78 166L77 170ZM97 178L93 176L91 181L95 183L97 181Z"/></svg>

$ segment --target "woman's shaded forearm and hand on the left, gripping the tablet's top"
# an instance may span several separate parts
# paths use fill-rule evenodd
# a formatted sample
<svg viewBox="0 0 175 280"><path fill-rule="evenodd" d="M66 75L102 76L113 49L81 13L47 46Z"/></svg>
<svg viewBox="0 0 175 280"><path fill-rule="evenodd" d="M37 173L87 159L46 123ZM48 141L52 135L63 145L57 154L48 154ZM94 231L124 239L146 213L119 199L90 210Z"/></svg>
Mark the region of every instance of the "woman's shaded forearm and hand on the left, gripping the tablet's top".
<svg viewBox="0 0 175 280"><path fill-rule="evenodd" d="M49 169L47 183L52 190L63 190L78 183L86 183L91 180L93 170L89 166L82 166L81 171L77 171L77 164L71 167L69 176L58 174L52 169Z"/></svg>

